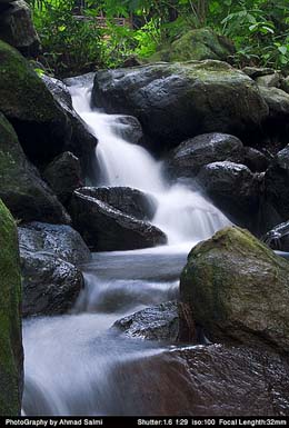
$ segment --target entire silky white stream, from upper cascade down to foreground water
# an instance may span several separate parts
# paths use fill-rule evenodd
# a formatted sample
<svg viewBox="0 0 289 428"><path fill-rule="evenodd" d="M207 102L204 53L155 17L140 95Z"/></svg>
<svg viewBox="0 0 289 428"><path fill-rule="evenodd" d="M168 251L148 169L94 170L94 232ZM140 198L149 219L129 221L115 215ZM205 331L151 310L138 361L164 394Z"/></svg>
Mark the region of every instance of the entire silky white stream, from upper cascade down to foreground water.
<svg viewBox="0 0 289 428"><path fill-rule="evenodd" d="M129 392L133 362L175 347L119 336L110 327L123 316L177 299L189 249L230 222L197 191L166 182L161 162L121 137L118 116L91 110L89 87L70 90L76 110L99 140L99 185L152 193L158 201L152 222L167 233L169 245L92 255L82 267L86 287L71 313L24 321L23 414L153 414L138 386ZM139 377L149 382L152 375L144 370Z"/></svg>

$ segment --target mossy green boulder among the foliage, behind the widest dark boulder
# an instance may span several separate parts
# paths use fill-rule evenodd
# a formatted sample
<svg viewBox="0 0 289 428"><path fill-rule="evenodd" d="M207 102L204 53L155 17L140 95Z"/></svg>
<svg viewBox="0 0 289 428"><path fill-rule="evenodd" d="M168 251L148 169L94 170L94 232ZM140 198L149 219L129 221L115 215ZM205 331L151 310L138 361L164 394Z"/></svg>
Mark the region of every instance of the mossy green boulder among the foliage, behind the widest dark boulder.
<svg viewBox="0 0 289 428"><path fill-rule="evenodd" d="M232 42L209 28L190 30L168 46L161 47L151 58L157 61L202 61L216 59L226 61L235 52Z"/></svg>

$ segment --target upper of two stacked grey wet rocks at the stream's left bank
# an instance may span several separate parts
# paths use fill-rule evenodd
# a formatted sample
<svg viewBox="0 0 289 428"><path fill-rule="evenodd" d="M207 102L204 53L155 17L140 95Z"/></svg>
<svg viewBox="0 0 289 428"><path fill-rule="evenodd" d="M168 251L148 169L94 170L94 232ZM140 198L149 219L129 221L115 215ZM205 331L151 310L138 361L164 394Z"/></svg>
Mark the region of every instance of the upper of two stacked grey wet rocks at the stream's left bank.
<svg viewBox="0 0 289 428"><path fill-rule="evenodd" d="M70 226L33 221L18 228L22 251L47 252L72 265L90 260L90 251L81 236Z"/></svg>

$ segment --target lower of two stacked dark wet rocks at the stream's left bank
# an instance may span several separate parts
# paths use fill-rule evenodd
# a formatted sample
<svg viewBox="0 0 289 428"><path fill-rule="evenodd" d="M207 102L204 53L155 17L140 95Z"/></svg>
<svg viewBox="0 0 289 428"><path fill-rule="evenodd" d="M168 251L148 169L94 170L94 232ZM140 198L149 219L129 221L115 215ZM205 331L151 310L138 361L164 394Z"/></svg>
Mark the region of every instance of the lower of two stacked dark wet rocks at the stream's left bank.
<svg viewBox="0 0 289 428"><path fill-rule="evenodd" d="M72 308L83 287L81 271L46 251L21 250L22 316L58 315Z"/></svg>

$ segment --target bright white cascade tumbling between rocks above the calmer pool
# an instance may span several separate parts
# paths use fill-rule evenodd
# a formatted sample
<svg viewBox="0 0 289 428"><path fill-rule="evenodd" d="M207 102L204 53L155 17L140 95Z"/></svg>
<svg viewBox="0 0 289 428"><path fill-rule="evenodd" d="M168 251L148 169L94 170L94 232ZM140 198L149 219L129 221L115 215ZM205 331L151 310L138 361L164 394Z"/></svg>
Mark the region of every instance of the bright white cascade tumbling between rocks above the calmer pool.
<svg viewBox="0 0 289 428"><path fill-rule="evenodd" d="M152 223L163 230L169 243L197 242L209 238L230 221L198 191L183 185L169 186L161 162L142 147L116 133L118 115L106 115L90 108L90 88L70 88L73 107L98 138L97 158L101 185L129 186L152 193L158 210Z"/></svg>

